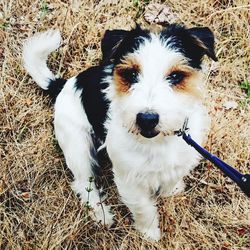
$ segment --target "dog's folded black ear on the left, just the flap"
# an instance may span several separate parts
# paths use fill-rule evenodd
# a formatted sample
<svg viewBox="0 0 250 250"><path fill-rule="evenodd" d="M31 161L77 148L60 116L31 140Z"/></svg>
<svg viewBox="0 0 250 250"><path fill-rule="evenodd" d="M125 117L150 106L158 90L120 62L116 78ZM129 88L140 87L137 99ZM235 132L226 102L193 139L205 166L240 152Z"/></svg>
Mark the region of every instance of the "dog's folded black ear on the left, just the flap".
<svg viewBox="0 0 250 250"><path fill-rule="evenodd" d="M112 58L116 48L123 38L129 33L126 30L107 30L101 41L102 60L106 61Z"/></svg>

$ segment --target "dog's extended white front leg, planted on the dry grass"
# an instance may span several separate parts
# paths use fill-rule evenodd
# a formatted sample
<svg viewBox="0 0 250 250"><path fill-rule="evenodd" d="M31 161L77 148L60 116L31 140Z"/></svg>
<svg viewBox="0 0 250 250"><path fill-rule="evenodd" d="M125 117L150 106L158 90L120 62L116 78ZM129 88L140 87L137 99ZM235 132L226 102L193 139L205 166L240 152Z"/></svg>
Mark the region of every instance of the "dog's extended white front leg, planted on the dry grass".
<svg viewBox="0 0 250 250"><path fill-rule="evenodd" d="M122 201L130 209L135 221L135 228L146 237L159 240L160 229L155 200L146 188L115 177Z"/></svg>

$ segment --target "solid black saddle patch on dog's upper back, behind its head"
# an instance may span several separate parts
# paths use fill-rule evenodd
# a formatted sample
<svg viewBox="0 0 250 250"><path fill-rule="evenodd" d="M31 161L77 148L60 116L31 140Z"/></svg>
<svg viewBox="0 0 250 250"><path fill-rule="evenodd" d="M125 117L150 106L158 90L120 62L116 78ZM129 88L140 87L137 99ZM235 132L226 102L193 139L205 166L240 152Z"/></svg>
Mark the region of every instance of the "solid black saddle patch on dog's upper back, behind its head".
<svg viewBox="0 0 250 250"><path fill-rule="evenodd" d="M81 90L81 101L89 123L92 125L98 140L104 141L106 131L104 122L107 117L109 102L105 99L102 90L108 87L108 83L102 82L107 76L101 66L91 67L77 76L76 88Z"/></svg>

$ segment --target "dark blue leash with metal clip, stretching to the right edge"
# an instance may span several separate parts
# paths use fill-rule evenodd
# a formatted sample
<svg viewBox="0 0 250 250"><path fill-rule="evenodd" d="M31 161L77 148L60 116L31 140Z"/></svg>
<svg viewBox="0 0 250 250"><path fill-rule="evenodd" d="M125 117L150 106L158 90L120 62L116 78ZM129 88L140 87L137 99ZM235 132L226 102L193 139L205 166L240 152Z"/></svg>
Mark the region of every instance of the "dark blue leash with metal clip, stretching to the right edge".
<svg viewBox="0 0 250 250"><path fill-rule="evenodd" d="M225 175L232 179L241 190L250 198L250 174L241 174L233 167L229 166L227 163L216 157L215 155L209 153L206 149L197 144L190 136L186 134L188 131L187 128L188 119L185 119L182 129L176 132L176 135L182 136L183 140L194 147L204 158L212 162L217 166Z"/></svg>

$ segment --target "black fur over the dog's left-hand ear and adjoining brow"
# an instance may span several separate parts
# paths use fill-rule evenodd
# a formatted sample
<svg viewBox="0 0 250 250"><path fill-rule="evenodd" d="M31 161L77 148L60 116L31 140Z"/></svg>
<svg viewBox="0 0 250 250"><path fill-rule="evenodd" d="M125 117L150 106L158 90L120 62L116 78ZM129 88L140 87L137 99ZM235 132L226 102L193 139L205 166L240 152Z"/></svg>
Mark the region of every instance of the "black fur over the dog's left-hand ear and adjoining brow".
<svg viewBox="0 0 250 250"><path fill-rule="evenodd" d="M102 50L107 56L103 57L103 64L118 64L125 55L138 49L145 38L150 39L150 32L139 25L130 31L108 31L102 40Z"/></svg>

